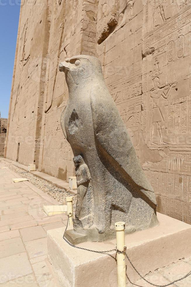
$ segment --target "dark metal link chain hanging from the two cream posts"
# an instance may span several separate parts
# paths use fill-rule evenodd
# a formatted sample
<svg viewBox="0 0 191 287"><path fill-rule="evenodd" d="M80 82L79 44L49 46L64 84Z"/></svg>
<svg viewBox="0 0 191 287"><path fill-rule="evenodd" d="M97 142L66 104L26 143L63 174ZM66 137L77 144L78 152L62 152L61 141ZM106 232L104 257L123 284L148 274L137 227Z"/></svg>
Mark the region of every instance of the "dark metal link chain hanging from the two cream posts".
<svg viewBox="0 0 191 287"><path fill-rule="evenodd" d="M107 254L107 255L109 255L110 257L112 257L116 262L117 262L116 257L114 257L114 256L112 256L111 254L109 254L109 252L116 251L116 254L117 254L117 253L119 253L119 254L125 253L125 256L127 257L129 263L131 264L131 266L133 267L133 269L136 271L136 273L140 276L140 278L142 278L145 282L149 283L150 285L156 286L156 287L167 287L167 286L170 286L170 285L172 285L172 284L174 284L174 283L176 283L176 282L178 282L178 281L180 281L180 280L183 280L183 279L185 279L185 278L187 278L188 276L191 275L191 271L190 271L190 272L187 273L184 277L182 277L182 278L180 278L180 279L177 279L177 280L174 280L173 282L171 282L171 283L169 283L169 284L166 284L166 285L156 285L156 284L153 284L153 283L147 281L147 280L137 271L137 269L134 267L133 263L132 263L131 260L129 259L128 255L126 254L126 250L124 250L124 252L121 252L121 251L119 251L119 250L117 250L117 249L115 248L115 249L107 250L107 251L96 251L96 250L91 250L91 249L86 249L86 248L83 248L83 247L75 246L75 245L71 244L71 243L65 238L65 232L66 232L66 230L67 230L67 228L68 228L69 218L70 218L71 216L72 216L72 214L69 213L69 214L68 214L68 221L67 221L66 229L65 229L64 235L63 235L63 239L65 240L65 242L67 242L67 244L69 244L70 246L72 246L72 247L74 247L74 248L81 249L81 250L86 250L86 251L91 251L91 252L95 252L95 253ZM70 223L69 223L69 224L70 224ZM135 284L135 283L132 283L132 282L130 281L129 277L127 276L127 273L126 273L126 277L127 277L127 279L129 280L129 282L127 282L127 283L131 283L131 284L133 284L133 285L135 285L135 286L138 286L138 287L144 287L144 286L141 286L141 285L137 285L137 284ZM127 283L126 283L126 284L127 284Z"/></svg>

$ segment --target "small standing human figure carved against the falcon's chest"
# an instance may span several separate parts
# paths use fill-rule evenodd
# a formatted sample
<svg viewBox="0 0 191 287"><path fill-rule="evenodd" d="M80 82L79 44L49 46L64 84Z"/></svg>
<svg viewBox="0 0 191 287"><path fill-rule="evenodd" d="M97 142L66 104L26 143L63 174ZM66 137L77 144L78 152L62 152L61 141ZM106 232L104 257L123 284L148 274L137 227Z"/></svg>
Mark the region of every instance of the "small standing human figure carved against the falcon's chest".
<svg viewBox="0 0 191 287"><path fill-rule="evenodd" d="M84 162L84 159L82 156L75 156L73 158L74 165L75 165L75 174L76 174L76 180L77 180L77 204L76 204L76 211L75 211L75 218L76 221L74 221L74 227L75 225L78 226L86 226L91 225L91 220L88 220L87 222L87 216L86 216L86 222L83 221L83 210L82 206L86 205L86 208L89 209L89 215L91 217L91 208L92 208L92 188L91 188L91 175L88 169L88 166ZM86 198L85 198L86 197ZM88 204L86 204L88 203ZM90 219L90 218L89 218Z"/></svg>

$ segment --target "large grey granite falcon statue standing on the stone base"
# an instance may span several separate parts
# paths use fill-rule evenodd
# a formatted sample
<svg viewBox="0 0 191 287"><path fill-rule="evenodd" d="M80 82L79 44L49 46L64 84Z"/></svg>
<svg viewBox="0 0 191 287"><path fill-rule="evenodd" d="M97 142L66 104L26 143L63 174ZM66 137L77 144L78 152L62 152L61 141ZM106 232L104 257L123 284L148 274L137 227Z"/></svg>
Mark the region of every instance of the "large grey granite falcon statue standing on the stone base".
<svg viewBox="0 0 191 287"><path fill-rule="evenodd" d="M81 228L93 230L91 239L98 240L97 235L113 232L116 221L125 221L129 232L157 225L154 191L107 90L100 61L75 56L60 63L59 70L65 72L69 90L62 130L74 157L82 156L91 175L93 200L84 197L82 209L87 212L78 217ZM88 204L93 204L91 213ZM83 224L84 214L91 217L91 226Z"/></svg>

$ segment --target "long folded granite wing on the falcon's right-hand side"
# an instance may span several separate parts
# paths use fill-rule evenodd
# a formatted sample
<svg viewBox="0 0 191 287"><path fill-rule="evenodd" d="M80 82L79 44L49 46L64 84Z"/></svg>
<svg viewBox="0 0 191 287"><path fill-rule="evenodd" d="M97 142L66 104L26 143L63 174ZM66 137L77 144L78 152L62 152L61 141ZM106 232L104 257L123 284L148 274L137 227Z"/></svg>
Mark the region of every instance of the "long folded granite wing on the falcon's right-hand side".
<svg viewBox="0 0 191 287"><path fill-rule="evenodd" d="M91 90L91 109L95 141L100 156L109 163L111 172L118 172L124 180L156 204L154 191L138 161L128 131L107 88Z"/></svg>

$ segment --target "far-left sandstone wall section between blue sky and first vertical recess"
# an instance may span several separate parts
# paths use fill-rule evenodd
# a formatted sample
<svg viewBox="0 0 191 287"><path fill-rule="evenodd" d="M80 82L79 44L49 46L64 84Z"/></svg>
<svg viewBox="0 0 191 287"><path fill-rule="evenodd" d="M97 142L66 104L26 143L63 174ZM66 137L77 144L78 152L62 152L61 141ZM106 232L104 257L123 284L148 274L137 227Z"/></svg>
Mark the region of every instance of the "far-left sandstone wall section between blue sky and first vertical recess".
<svg viewBox="0 0 191 287"><path fill-rule="evenodd" d="M38 167L49 9L45 1L35 2L32 5L31 1L22 1L21 6L6 157L24 165L36 163Z"/></svg>

